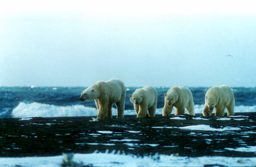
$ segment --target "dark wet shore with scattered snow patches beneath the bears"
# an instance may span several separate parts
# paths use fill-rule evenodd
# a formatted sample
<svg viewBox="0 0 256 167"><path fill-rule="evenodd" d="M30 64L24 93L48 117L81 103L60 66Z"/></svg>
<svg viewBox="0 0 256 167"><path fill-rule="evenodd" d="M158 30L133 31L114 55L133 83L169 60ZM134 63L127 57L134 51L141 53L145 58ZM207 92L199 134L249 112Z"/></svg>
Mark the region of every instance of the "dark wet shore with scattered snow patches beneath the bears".
<svg viewBox="0 0 256 167"><path fill-rule="evenodd" d="M205 118L202 114L134 117L99 121L93 121L92 117L0 119L0 157L107 150L139 156L158 153L256 157L255 112L224 118Z"/></svg>

